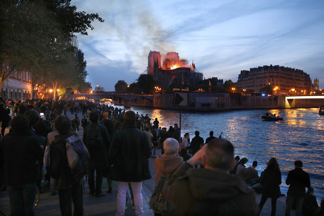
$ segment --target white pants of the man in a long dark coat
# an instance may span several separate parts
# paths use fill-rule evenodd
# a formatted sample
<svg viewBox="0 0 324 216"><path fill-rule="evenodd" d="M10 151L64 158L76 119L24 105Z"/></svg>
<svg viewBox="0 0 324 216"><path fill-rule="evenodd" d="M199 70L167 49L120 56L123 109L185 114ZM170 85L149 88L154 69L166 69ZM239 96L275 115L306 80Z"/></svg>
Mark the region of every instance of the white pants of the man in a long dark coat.
<svg viewBox="0 0 324 216"><path fill-rule="evenodd" d="M142 197L142 182L131 182L134 195L134 207L136 215L144 215L143 211L143 197ZM125 215L126 205L126 192L128 188L128 182L117 182L117 212L116 216Z"/></svg>

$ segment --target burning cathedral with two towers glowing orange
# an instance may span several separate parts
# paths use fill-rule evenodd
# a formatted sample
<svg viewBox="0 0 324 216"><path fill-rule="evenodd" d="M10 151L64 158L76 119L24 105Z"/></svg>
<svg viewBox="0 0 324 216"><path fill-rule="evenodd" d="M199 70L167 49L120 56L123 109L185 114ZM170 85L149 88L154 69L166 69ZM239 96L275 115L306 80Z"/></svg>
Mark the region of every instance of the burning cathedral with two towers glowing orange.
<svg viewBox="0 0 324 216"><path fill-rule="evenodd" d="M166 89L173 83L190 86L203 80L203 74L196 70L195 64L188 64L187 59L179 58L179 53L168 52L162 62L160 52L150 51L148 54L147 74L153 75L153 79L162 83Z"/></svg>

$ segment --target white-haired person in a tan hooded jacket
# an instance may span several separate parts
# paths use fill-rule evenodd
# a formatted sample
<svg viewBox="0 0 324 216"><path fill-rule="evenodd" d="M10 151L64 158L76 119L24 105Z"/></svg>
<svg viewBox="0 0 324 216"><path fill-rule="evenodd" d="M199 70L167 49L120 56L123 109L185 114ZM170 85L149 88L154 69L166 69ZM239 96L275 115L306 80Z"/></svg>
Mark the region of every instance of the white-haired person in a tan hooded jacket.
<svg viewBox="0 0 324 216"><path fill-rule="evenodd" d="M155 185L159 182L163 173L170 176L178 170L183 164L183 158L178 156L179 142L174 138L168 138L163 142L164 154L155 159L154 169L156 171Z"/></svg>

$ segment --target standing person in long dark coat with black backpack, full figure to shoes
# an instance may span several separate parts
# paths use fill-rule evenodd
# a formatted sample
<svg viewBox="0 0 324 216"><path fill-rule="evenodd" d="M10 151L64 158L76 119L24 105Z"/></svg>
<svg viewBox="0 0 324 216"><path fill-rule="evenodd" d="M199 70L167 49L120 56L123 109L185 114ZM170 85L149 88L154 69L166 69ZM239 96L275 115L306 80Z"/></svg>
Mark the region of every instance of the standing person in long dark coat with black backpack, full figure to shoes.
<svg viewBox="0 0 324 216"><path fill-rule="evenodd" d="M97 111L91 112L89 119L91 123L83 131L83 142L90 153L88 179L90 189L89 195L98 198L106 195L101 191L101 185L104 169L108 166L110 139L107 128L98 122L99 113Z"/></svg>

